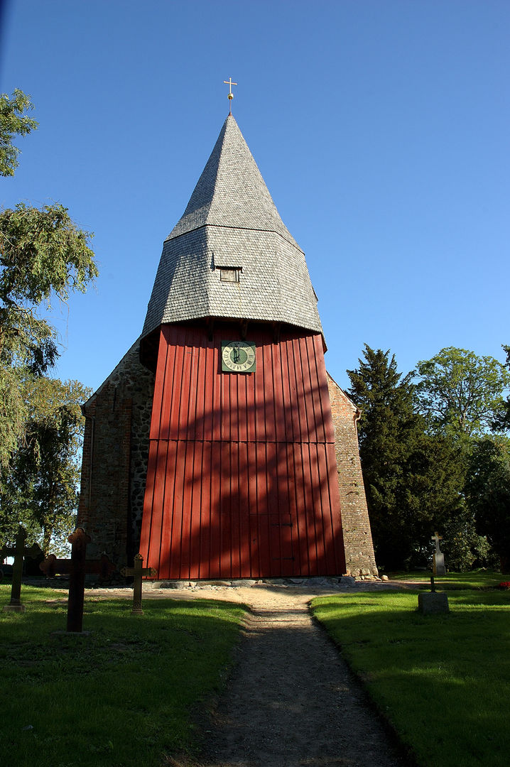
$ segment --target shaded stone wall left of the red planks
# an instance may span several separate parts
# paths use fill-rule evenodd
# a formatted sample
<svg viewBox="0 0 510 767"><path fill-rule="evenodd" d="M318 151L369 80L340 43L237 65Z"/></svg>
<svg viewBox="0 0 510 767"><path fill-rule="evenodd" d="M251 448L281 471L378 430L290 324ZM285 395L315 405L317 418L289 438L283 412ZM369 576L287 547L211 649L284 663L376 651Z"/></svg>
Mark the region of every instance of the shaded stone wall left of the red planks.
<svg viewBox="0 0 510 767"><path fill-rule="evenodd" d="M117 567L138 551L149 453L154 375L140 364L139 343L84 404L86 417L77 524Z"/></svg>

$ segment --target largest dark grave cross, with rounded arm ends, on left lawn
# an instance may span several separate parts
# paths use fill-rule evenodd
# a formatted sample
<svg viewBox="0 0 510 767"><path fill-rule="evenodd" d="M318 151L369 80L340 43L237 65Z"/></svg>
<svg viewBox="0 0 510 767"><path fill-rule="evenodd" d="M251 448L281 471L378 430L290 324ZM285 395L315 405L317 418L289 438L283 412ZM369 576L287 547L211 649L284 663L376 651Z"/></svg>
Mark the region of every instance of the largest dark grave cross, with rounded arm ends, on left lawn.
<svg viewBox="0 0 510 767"><path fill-rule="evenodd" d="M87 560L85 558L90 536L83 528L76 528L67 540L71 544L71 559L57 559L54 554L51 554L44 562L41 562L39 567L47 578L51 578L56 573L69 575L67 631L81 634L84 617L85 575L96 573L100 578L107 578L110 573L115 571L115 565L105 554L100 560Z"/></svg>

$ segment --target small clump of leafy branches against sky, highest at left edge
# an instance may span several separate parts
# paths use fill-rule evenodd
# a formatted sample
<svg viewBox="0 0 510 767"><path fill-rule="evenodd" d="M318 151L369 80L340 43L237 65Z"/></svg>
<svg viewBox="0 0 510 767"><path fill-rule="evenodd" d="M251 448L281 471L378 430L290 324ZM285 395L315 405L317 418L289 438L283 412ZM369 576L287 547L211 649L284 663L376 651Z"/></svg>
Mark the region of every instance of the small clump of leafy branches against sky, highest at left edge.
<svg viewBox="0 0 510 767"><path fill-rule="evenodd" d="M25 112L34 108L30 96L16 89L11 97L0 94L0 176L14 176L18 167L18 147L15 136L26 136L38 123Z"/></svg>

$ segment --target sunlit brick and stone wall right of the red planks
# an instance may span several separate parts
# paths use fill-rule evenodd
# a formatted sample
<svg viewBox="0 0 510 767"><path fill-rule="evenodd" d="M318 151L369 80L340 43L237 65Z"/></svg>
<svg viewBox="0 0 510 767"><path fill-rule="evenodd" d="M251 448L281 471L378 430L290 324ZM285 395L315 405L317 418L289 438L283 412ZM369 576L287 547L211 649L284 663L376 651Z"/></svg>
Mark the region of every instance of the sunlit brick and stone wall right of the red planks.
<svg viewBox="0 0 510 767"><path fill-rule="evenodd" d="M360 411L330 374L327 374L327 387L337 454L346 571L354 576L377 576L357 441L356 423Z"/></svg>

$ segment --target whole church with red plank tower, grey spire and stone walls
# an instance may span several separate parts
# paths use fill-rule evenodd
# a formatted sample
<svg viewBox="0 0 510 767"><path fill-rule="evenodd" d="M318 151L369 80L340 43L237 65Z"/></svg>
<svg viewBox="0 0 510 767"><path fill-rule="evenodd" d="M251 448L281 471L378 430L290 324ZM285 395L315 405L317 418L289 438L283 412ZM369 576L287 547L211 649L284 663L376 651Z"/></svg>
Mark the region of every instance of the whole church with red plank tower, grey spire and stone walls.
<svg viewBox="0 0 510 767"><path fill-rule="evenodd" d="M324 351L304 253L229 114L163 244L140 340L84 406L80 524L117 558L139 549L159 580L377 574L359 412ZM100 412L125 435L103 463ZM105 461L127 495L110 528Z"/></svg>

